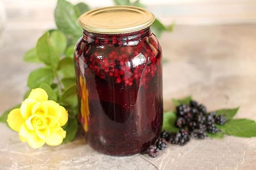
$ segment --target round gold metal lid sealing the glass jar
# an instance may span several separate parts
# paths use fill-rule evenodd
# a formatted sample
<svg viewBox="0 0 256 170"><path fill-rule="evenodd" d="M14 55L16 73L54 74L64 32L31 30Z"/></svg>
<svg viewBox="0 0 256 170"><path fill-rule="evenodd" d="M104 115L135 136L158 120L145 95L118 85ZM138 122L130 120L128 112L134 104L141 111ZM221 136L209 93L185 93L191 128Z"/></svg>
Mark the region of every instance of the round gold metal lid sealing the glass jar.
<svg viewBox="0 0 256 170"><path fill-rule="evenodd" d="M88 32L121 34L147 28L154 20L154 15L143 8L111 6L85 12L79 17L78 23Z"/></svg>

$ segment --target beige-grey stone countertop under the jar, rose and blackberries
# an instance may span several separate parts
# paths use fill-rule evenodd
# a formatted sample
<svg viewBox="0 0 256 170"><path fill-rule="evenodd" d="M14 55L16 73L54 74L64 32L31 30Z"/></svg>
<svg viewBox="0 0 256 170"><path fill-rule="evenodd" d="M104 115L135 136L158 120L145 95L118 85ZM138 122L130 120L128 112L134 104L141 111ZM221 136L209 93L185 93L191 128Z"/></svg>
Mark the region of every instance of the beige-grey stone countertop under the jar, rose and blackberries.
<svg viewBox="0 0 256 170"><path fill-rule="evenodd" d="M38 65L22 62L42 29L7 29L0 49L0 113L20 103L26 79ZM176 26L160 39L164 109L171 98L192 95L209 110L240 106L236 118L256 120L256 26ZM255 170L256 138L192 140L169 144L153 159L147 155L108 156L79 136L72 143L33 150L0 123L0 170Z"/></svg>

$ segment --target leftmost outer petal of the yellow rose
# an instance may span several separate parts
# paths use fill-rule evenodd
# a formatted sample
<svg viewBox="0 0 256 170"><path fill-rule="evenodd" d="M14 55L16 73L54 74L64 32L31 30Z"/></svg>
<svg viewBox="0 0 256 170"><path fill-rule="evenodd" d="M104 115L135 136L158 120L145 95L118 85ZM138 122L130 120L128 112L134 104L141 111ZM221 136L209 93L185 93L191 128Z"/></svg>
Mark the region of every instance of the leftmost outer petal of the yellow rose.
<svg viewBox="0 0 256 170"><path fill-rule="evenodd" d="M10 111L7 117L7 123L8 125L18 132L20 130L20 126L25 122L25 119L21 116L20 109L13 109Z"/></svg>

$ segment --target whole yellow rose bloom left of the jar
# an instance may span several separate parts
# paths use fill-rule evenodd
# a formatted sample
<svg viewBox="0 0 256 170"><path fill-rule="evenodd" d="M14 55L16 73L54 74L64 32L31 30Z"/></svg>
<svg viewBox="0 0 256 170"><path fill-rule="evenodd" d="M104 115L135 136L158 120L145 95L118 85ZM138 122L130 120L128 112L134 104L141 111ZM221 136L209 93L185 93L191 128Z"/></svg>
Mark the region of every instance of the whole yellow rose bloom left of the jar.
<svg viewBox="0 0 256 170"><path fill-rule="evenodd" d="M64 107L48 100L44 89L35 88L20 108L9 113L7 123L19 133L22 142L36 149L45 143L51 146L61 144L66 137L66 131L61 126L67 123L67 119Z"/></svg>

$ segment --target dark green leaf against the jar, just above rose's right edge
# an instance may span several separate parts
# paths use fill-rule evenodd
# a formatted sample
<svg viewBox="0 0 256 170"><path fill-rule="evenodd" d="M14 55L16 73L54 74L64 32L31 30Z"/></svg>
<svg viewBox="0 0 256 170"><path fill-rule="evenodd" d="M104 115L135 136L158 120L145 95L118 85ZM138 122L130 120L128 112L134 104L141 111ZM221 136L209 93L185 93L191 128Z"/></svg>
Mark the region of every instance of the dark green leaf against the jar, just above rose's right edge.
<svg viewBox="0 0 256 170"><path fill-rule="evenodd" d="M67 90L63 92L59 100L60 105L63 105L69 108L77 107L77 96L76 96L76 85L70 86Z"/></svg>

